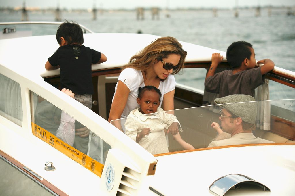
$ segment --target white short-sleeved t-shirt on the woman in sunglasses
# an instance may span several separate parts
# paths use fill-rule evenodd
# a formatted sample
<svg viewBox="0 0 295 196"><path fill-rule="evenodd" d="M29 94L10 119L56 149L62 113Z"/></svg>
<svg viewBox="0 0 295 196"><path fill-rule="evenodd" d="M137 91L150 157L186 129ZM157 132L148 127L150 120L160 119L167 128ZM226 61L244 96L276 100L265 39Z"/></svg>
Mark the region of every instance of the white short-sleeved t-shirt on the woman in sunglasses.
<svg viewBox="0 0 295 196"><path fill-rule="evenodd" d="M119 75L118 82L119 81L126 84L126 86L130 90L126 106L125 106L124 111L123 111L123 113L121 115L121 118L126 118L132 110L140 107L136 102L137 95L138 95L138 88L139 87L144 87L145 84L143 82L142 72L140 70L136 70L136 69L133 69L133 68L123 69L123 71ZM116 87L115 87L114 96L115 96L116 91L117 91L118 82L117 82ZM159 85L158 89L162 93L162 97L161 97L159 107L161 107L161 105L162 105L163 95L170 92L170 91L172 91L172 90L174 90L175 86L176 86L176 82L175 82L175 78L174 78L173 75L168 76L165 81L160 82L160 85ZM113 97L113 100L114 100L114 97Z"/></svg>

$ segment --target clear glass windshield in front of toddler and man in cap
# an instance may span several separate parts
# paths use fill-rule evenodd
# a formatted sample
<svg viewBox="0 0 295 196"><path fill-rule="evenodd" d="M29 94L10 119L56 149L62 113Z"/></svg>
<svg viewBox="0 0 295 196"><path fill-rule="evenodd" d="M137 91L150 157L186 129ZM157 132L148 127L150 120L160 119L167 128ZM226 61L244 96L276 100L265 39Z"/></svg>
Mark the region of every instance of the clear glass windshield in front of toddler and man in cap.
<svg viewBox="0 0 295 196"><path fill-rule="evenodd" d="M145 115L140 111L131 113L132 117L112 124L120 121L125 134L154 155L239 144L295 142L295 99L211 105ZM173 136L173 131L179 134Z"/></svg>

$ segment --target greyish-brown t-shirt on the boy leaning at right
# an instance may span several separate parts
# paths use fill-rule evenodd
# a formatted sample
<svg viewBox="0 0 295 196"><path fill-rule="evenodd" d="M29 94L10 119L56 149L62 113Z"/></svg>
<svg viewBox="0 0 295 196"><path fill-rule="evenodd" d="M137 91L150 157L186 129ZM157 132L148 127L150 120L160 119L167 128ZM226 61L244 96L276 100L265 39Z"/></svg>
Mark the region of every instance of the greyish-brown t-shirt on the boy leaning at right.
<svg viewBox="0 0 295 196"><path fill-rule="evenodd" d="M260 69L258 67L235 74L232 74L232 70L216 73L205 80L205 90L219 93L219 97L231 94L248 94L254 97L254 89L264 82Z"/></svg>

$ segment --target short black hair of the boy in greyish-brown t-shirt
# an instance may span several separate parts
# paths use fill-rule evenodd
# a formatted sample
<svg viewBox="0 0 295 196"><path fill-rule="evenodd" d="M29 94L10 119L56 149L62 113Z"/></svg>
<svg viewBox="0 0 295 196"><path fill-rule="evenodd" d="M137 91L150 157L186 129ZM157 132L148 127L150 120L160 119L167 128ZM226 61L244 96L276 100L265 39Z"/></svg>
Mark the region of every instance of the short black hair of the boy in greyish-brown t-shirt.
<svg viewBox="0 0 295 196"><path fill-rule="evenodd" d="M252 44L246 41L236 41L228 46L226 59L232 68L240 67L245 59L250 59Z"/></svg>

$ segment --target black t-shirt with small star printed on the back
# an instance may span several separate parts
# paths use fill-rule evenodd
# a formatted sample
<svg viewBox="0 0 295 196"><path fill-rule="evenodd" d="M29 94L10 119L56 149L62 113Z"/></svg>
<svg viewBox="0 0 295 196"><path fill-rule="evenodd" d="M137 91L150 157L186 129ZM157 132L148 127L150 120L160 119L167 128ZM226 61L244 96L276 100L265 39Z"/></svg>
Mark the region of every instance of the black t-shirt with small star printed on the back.
<svg viewBox="0 0 295 196"><path fill-rule="evenodd" d="M73 44L60 46L48 61L52 66L60 66L61 88L70 89L75 94L93 94L91 65L100 58L100 52Z"/></svg>

